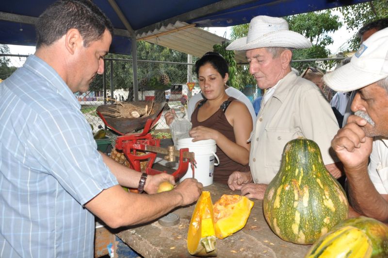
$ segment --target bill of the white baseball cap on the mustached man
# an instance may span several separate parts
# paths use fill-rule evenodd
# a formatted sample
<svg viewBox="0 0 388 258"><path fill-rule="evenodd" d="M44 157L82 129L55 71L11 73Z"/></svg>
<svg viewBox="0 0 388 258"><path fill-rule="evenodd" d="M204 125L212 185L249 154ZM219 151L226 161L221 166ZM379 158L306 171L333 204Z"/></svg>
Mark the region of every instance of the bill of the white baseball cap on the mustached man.
<svg viewBox="0 0 388 258"><path fill-rule="evenodd" d="M339 92L348 92L371 85L387 75L357 69L352 63L341 66L323 76L327 86Z"/></svg>

